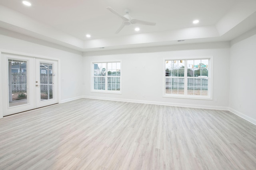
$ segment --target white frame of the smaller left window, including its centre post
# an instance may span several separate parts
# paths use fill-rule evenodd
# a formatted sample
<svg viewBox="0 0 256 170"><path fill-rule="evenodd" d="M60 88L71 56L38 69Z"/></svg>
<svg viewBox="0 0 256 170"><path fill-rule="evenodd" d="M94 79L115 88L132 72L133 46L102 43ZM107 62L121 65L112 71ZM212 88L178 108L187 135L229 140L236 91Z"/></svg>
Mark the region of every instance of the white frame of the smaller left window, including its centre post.
<svg viewBox="0 0 256 170"><path fill-rule="evenodd" d="M96 63L120 63L120 90L108 90L105 88L105 90L102 89L94 89L94 64ZM107 86L108 84L108 69L106 68L106 75L105 75L105 84ZM117 77L117 76L116 76ZM109 93L109 94L122 94L122 61L121 60L104 60L104 61L91 61L91 92L96 93Z"/></svg>

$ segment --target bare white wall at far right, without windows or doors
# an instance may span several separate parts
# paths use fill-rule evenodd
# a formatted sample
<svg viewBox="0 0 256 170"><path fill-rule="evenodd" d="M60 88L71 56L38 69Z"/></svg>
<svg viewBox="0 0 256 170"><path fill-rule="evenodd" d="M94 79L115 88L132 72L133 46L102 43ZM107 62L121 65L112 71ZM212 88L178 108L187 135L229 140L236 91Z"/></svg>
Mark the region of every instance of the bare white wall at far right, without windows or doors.
<svg viewBox="0 0 256 170"><path fill-rule="evenodd" d="M230 111L256 125L256 28L231 41Z"/></svg>

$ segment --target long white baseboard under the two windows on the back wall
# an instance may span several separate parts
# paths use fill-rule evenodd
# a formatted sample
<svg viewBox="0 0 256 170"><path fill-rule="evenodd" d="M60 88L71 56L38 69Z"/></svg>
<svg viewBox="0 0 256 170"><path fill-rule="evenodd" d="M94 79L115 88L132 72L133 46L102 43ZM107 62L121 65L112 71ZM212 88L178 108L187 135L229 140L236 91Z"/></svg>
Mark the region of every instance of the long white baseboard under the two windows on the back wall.
<svg viewBox="0 0 256 170"><path fill-rule="evenodd" d="M95 96L83 96L83 98L98 99L98 100L112 100L112 101L118 101L118 102L142 103L142 104L157 104L157 105L165 105L165 106L191 107L191 108L200 108L200 109L229 110L229 107L222 107L222 106L205 106L205 105L194 105L194 104L179 104L179 103L156 102L156 101L147 101L147 100L104 98L104 97L95 97Z"/></svg>

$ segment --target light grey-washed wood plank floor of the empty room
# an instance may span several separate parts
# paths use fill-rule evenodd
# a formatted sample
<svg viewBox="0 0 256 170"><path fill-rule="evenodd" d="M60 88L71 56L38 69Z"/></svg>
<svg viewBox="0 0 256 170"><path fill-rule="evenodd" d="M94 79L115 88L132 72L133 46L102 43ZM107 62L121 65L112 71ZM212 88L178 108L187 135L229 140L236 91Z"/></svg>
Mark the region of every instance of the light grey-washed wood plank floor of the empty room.
<svg viewBox="0 0 256 170"><path fill-rule="evenodd" d="M80 99L0 119L0 169L255 170L229 111Z"/></svg>

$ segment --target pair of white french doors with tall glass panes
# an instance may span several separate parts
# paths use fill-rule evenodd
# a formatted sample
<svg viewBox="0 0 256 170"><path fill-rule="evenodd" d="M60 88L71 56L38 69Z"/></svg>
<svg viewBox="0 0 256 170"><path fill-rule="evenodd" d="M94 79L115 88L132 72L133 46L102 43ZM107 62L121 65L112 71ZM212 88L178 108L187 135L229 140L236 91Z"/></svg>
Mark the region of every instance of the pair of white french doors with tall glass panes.
<svg viewBox="0 0 256 170"><path fill-rule="evenodd" d="M1 54L3 116L58 103L57 61ZM5 86L4 86L5 84Z"/></svg>

